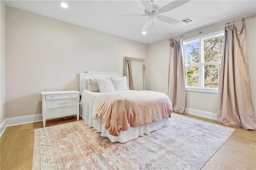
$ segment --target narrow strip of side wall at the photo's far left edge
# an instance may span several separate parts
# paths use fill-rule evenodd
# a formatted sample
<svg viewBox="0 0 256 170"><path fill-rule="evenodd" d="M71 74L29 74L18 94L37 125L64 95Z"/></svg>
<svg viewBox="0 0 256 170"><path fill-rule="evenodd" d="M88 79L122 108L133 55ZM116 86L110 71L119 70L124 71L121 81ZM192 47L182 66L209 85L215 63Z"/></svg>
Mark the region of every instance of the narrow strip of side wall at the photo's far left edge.
<svg viewBox="0 0 256 170"><path fill-rule="evenodd" d="M2 0L0 1L0 16L0 123L2 123L5 119L5 4Z"/></svg>

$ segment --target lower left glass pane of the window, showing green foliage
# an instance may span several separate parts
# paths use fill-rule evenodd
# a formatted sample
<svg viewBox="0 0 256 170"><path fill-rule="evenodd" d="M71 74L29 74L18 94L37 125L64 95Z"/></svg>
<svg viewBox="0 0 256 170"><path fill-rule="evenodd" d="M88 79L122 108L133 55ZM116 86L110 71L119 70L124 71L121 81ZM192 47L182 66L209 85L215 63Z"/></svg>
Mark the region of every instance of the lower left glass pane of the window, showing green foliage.
<svg viewBox="0 0 256 170"><path fill-rule="evenodd" d="M186 67L186 86L199 86L199 69L198 66Z"/></svg>

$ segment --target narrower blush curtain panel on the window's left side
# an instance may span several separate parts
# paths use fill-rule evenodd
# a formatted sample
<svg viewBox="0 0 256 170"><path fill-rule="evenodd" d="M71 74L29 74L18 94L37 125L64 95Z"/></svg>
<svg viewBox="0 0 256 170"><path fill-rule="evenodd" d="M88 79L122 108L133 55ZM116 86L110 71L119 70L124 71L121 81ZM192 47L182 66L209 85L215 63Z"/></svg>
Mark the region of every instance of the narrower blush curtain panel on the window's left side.
<svg viewBox="0 0 256 170"><path fill-rule="evenodd" d="M177 113L185 113L186 102L182 47L182 39L170 41L168 97L172 102L173 111Z"/></svg>

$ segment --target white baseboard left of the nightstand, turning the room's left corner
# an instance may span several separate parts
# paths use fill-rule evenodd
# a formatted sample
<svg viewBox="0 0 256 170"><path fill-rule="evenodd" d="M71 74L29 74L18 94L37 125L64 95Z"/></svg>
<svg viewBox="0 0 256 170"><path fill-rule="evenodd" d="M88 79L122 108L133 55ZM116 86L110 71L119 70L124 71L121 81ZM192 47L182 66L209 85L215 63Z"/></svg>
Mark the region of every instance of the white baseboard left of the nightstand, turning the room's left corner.
<svg viewBox="0 0 256 170"><path fill-rule="evenodd" d="M4 130L6 129L6 127L10 127L14 125L22 125L26 123L40 122L40 121L42 121L42 114L6 118L0 125L1 127L0 137L4 133Z"/></svg>

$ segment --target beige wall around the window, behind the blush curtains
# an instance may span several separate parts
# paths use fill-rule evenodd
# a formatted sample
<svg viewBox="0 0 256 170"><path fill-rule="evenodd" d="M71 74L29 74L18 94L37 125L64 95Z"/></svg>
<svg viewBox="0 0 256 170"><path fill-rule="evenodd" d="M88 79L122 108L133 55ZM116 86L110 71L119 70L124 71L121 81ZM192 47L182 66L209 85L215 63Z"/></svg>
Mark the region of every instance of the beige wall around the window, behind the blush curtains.
<svg viewBox="0 0 256 170"><path fill-rule="evenodd" d="M206 26L204 28L196 29L184 34L192 32L198 32L198 30L204 30L201 34L191 34L190 36L184 36L183 40L197 37L204 34L210 34L224 30L225 22L232 21L241 17L249 16L246 14L240 17L232 18L227 21L219 22ZM256 111L256 17L246 19L246 38L248 45L248 67L250 73L251 94L254 110ZM181 35L184 35L181 34ZM177 35L175 37L180 37ZM172 37L171 37L172 38ZM168 62L169 62L169 41L161 40L148 45L147 56L147 71L148 71L148 90L159 91L168 94ZM204 93L195 91L186 91L186 107L190 109L196 109L199 111L217 113L217 93Z"/></svg>

